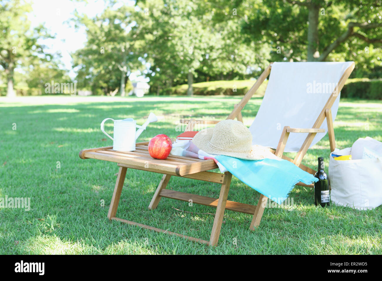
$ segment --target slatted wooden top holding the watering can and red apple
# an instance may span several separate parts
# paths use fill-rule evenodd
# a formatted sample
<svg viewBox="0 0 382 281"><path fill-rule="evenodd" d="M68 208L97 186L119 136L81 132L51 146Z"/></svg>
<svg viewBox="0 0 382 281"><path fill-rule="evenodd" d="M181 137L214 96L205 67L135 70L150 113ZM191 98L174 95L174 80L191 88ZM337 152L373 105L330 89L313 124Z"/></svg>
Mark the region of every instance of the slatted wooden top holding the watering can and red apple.
<svg viewBox="0 0 382 281"><path fill-rule="evenodd" d="M202 160L171 154L164 160L154 159L149 154L148 142L137 143L134 151L115 151L113 146L83 149L79 152L79 157L117 162L133 169L178 176L218 168L212 159Z"/></svg>

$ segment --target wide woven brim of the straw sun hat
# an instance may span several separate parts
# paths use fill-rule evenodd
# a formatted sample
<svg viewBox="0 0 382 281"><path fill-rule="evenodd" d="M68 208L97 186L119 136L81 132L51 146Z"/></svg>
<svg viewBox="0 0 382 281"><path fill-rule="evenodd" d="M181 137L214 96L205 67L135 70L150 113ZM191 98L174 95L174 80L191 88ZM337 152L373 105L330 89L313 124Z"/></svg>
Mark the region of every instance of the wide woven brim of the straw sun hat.
<svg viewBox="0 0 382 281"><path fill-rule="evenodd" d="M222 151L215 149L211 146L213 131L214 128L206 128L201 130L194 136L192 142L197 146L197 148L212 155L230 156L245 160L262 160L265 158L265 150L261 149L257 145L253 145L251 151Z"/></svg>

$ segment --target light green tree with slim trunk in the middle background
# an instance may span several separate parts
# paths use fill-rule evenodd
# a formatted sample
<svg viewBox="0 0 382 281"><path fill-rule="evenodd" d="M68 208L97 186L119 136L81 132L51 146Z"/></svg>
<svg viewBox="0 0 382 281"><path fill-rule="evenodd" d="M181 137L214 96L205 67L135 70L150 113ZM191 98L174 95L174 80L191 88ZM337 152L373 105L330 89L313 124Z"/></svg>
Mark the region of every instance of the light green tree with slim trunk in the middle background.
<svg viewBox="0 0 382 281"><path fill-rule="evenodd" d="M146 30L154 75L171 69L178 78L188 81L187 94L191 96L196 69L214 42L206 30L210 16L197 13L197 1L191 0L147 0L138 2L138 7L141 11L138 24Z"/></svg>

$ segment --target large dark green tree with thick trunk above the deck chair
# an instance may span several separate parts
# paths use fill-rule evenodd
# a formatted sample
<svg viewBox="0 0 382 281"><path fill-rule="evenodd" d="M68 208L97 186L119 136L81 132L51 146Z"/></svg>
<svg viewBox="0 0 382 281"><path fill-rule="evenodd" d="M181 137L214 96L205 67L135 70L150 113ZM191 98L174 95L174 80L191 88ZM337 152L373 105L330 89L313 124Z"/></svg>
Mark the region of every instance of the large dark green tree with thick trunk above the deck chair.
<svg viewBox="0 0 382 281"><path fill-rule="evenodd" d="M274 55L288 60L325 61L334 53L345 57L347 44L364 48L382 43L380 0L238 2L251 6L244 12L243 31L272 42L279 48Z"/></svg>

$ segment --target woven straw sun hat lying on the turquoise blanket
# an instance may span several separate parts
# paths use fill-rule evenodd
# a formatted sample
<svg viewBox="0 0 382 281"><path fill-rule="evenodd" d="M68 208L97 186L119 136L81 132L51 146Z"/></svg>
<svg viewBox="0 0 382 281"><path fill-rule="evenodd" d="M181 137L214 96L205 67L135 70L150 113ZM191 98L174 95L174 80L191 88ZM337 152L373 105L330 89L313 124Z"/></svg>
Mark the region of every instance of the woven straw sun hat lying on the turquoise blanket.
<svg viewBox="0 0 382 281"><path fill-rule="evenodd" d="M262 146L252 145L249 129L237 120L223 120L214 128L197 133L192 142L197 148L213 155L224 155L248 160L265 158Z"/></svg>

